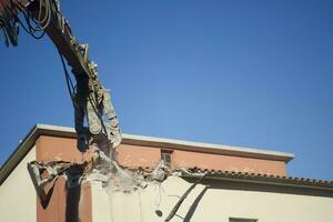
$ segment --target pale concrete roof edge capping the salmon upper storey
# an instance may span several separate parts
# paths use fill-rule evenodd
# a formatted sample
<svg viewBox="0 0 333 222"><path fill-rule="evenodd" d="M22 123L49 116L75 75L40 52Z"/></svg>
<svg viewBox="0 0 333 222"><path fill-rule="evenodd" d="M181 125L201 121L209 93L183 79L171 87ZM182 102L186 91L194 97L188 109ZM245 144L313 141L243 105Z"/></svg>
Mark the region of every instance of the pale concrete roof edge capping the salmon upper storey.
<svg viewBox="0 0 333 222"><path fill-rule="evenodd" d="M8 160L3 163L0 170L0 185L12 172L12 170L20 163L24 155L34 145L36 140L40 135L62 137L62 138L75 138L77 133L73 128L50 125L50 124L36 124L22 142L17 147ZM186 150L215 154L238 155L256 159L269 159L276 161L289 162L294 158L293 153L284 153L278 151L266 151L250 148L220 145L211 143L190 142L182 140L172 140L164 138L153 138L133 134L122 134L122 144L134 144L134 145L148 145L158 147L164 149Z"/></svg>

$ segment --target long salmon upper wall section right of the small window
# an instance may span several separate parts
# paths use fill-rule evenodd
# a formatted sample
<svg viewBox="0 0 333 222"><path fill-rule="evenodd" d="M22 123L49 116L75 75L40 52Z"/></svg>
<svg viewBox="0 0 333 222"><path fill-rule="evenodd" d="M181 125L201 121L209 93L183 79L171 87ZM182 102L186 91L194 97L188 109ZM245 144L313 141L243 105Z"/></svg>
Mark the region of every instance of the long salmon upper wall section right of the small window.
<svg viewBox="0 0 333 222"><path fill-rule="evenodd" d="M219 155L181 150L173 151L172 164L180 168L196 167L214 170L286 175L285 163L283 161L261 160L222 154Z"/></svg>

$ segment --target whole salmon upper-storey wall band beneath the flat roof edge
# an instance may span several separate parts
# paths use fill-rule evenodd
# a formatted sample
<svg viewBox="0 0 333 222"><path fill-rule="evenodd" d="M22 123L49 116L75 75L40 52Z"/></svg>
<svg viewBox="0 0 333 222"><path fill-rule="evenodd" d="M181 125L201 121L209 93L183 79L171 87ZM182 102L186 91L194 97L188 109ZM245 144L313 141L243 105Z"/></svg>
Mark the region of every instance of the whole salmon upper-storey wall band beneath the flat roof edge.
<svg viewBox="0 0 333 222"><path fill-rule="evenodd" d="M75 139L42 135L37 140L37 160L44 162L54 160L81 162L82 160L90 160L92 150L89 150L82 155L75 148ZM123 167L154 168L160 161L161 148L121 144L117 149L117 152L118 161ZM212 154L183 150L173 151L172 164L174 167L182 168L196 167L214 170L286 175L284 161Z"/></svg>

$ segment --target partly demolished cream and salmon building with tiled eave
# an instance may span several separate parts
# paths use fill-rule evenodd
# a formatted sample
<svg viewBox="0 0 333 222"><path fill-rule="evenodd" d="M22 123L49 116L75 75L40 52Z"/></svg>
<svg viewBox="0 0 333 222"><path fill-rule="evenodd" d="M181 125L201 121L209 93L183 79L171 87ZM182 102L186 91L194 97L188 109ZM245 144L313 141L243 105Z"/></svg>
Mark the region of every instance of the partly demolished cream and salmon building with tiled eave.
<svg viewBox="0 0 333 222"><path fill-rule="evenodd" d="M161 182L122 192L84 180L69 188L59 176L37 196L27 163L82 163L70 128L37 124L0 171L1 221L38 222L329 222L333 182L289 178L294 155L275 151L123 135L118 162L144 174L161 159L172 169ZM143 176L144 178L144 176Z"/></svg>

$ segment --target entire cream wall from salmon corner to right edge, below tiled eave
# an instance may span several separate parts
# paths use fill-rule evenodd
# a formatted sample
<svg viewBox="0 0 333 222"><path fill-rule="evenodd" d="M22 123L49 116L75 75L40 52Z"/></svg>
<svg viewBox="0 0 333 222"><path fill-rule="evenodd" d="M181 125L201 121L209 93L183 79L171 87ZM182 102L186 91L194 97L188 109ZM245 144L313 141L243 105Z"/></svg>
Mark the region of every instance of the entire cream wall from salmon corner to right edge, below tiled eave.
<svg viewBox="0 0 333 222"><path fill-rule="evenodd" d="M333 219L333 198L300 193L296 189L272 185L235 185L240 183L210 183L208 190L198 185L185 199L173 222L229 222L229 218L259 219L262 222L329 222ZM219 185L220 184L220 185ZM170 176L159 185L149 185L143 191L127 193L110 193L92 184L92 218L93 222L159 222L164 221L191 183L183 179ZM235 190L234 190L234 189ZM279 190L280 189L280 190ZM255 191L256 190L256 191ZM258 190L265 190L258 191ZM304 191L304 190L303 190ZM303 192L301 191L301 192ZM198 198L202 194L202 199ZM194 208L198 203L198 208ZM190 209L190 206L193 206ZM155 210L161 210L158 216ZM191 213L193 214L191 215Z"/></svg>

